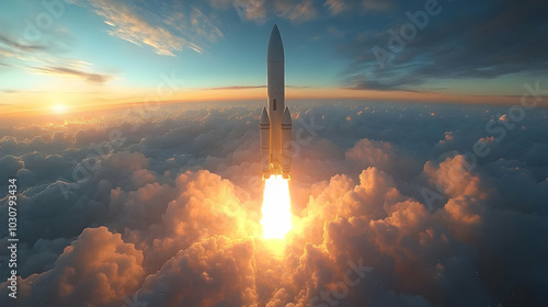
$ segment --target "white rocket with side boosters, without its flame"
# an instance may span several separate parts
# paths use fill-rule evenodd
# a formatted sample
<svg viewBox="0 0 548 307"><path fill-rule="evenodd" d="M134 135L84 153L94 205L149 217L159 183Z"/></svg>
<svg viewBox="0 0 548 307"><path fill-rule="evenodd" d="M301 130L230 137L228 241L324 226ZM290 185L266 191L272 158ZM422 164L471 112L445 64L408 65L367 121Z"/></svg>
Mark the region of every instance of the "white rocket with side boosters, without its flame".
<svg viewBox="0 0 548 307"><path fill-rule="evenodd" d="M261 168L271 174L289 178L292 168L292 113L285 106L284 44L277 25L272 29L266 56L269 101L260 123Z"/></svg>

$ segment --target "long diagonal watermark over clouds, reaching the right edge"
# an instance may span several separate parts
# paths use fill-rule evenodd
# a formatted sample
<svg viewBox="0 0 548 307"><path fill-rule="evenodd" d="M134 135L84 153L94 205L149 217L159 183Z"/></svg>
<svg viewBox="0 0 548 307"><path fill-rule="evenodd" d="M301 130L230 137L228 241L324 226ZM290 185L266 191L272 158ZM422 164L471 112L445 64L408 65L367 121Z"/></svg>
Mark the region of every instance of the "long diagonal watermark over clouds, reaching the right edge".
<svg viewBox="0 0 548 307"><path fill-rule="evenodd" d="M523 87L524 92L520 103L510 106L505 114L496 114L496 121L490 120L486 124L486 133L490 135L490 139L493 141L502 143L506 138L507 132L516 128L516 124L525 120L526 111L535 109L548 95L548 90L540 89L540 81L536 81L535 86L524 83ZM489 143L481 138L472 145L471 151L463 155L465 158L463 166L454 166L446 177L438 172L437 192L429 187L421 189L422 197L429 209L433 211L433 204L443 201L455 189L456 184L465 179L465 173L473 170L478 166L478 160L488 157L490 154Z"/></svg>

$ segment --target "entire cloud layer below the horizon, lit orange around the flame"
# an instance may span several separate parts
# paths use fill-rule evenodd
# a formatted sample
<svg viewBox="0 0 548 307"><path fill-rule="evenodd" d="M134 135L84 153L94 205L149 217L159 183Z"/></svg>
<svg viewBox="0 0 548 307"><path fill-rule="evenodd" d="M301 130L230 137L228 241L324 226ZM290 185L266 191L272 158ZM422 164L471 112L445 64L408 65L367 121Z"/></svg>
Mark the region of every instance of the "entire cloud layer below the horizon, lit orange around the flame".
<svg viewBox="0 0 548 307"><path fill-rule="evenodd" d="M545 110L496 140L503 107L295 103L281 246L260 236L261 107L181 107L7 130L20 306L546 302ZM473 161L478 140L491 151Z"/></svg>

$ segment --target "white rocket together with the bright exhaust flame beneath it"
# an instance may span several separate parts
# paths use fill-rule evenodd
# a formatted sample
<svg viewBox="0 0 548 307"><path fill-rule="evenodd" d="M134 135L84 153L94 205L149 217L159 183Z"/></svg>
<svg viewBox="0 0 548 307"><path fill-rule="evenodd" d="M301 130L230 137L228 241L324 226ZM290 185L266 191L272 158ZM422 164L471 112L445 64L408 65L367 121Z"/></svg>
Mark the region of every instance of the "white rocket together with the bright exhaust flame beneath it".
<svg viewBox="0 0 548 307"><path fill-rule="evenodd" d="M282 35L274 25L267 52L267 109L260 123L263 171L263 237L283 239L292 229L289 171L292 167L292 114L285 106L285 58Z"/></svg>

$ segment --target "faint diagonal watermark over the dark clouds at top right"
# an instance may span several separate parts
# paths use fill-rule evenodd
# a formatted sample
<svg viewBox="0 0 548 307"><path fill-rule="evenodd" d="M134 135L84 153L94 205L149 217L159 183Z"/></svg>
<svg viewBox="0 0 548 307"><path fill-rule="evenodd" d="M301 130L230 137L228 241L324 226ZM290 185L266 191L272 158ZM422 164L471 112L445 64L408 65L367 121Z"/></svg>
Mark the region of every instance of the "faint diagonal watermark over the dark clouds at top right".
<svg viewBox="0 0 548 307"><path fill-rule="evenodd" d="M453 1L453 0L446 0ZM399 30L389 29L387 31L389 38L387 41L387 48L375 45L373 54L377 59L380 69L385 69L387 60L395 58L399 53L406 49L407 44L416 38L419 31L423 31L430 23L432 16L436 16L442 12L443 8L437 0L426 0L424 2L424 10L419 10L414 13L407 11L406 16L409 22L402 24Z"/></svg>

